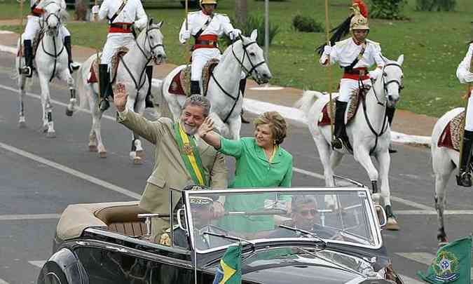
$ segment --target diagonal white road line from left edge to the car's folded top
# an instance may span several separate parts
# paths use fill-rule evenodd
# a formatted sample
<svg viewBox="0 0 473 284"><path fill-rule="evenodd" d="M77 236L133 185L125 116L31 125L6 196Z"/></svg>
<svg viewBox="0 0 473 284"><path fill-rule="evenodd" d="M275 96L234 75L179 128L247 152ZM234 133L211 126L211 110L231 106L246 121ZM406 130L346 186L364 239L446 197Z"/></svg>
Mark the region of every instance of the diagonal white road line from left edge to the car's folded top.
<svg viewBox="0 0 473 284"><path fill-rule="evenodd" d="M85 173L79 172L78 170L74 170L65 165L61 165L60 163L55 163L46 158L41 158L40 156L36 156L35 154L29 153L27 151L23 151L22 149L15 148L13 146L4 144L2 142L0 142L0 147L8 151L12 151L13 153L18 154L20 156L30 158L36 162L49 165L51 168L61 170L62 172L68 173L69 175L74 175L75 177L81 178L83 180L87 180L88 182L92 182L92 184L97 184L100 187L105 187L106 189L110 189L111 191L116 191L125 196L130 196L131 198L135 198L135 199L141 198L140 194L137 194L133 191L129 191L128 189L124 189L123 187L118 187L115 184L111 184L110 182L105 182L104 180L97 179L97 177L92 177L91 175L87 175Z"/></svg>

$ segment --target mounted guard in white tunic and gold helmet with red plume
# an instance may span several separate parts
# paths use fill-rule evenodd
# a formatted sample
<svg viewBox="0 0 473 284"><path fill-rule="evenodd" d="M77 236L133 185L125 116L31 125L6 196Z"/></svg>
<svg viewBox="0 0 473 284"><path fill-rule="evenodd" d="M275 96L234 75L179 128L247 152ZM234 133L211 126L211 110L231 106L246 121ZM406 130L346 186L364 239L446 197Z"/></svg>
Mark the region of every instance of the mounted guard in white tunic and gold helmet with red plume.
<svg viewBox="0 0 473 284"><path fill-rule="evenodd" d="M334 35L330 39L331 43L336 42L335 45L324 46L320 57L322 66L338 62L338 65L344 70L336 100L334 140L331 142L334 149L342 149L343 144L348 141L345 130L345 109L348 101L359 88L371 88L371 79L376 79L385 65L380 44L366 39L369 34L366 5L362 0L353 0L351 9L353 14L336 27ZM349 39L338 41L348 34L348 31L352 36ZM368 68L375 64L377 68L368 72ZM394 110L394 107L388 107L386 110L390 123L392 123ZM393 151L395 150L390 149L390 152Z"/></svg>

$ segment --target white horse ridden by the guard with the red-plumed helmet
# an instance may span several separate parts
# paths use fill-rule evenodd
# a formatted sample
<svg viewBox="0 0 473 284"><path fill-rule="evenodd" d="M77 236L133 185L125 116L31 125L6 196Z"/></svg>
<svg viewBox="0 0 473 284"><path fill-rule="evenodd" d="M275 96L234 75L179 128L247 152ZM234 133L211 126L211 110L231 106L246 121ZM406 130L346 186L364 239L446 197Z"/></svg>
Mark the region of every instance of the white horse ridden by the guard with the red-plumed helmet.
<svg viewBox="0 0 473 284"><path fill-rule="evenodd" d="M386 60L383 74L378 76L373 87L366 93L365 100L360 99L359 107L352 121L348 123L348 134L355 161L358 161L366 170L371 180L373 200L377 203L383 198L385 210L388 213L387 229L399 229L397 221L392 215L389 187L390 154L390 125L386 118L386 106L394 107L399 100L402 89L402 62L404 55L397 61ZM318 99L318 100L317 100ZM319 126L318 121L322 109L329 101L329 95L315 91L306 91L298 102L299 107L306 114L310 133L319 151L320 160L324 167L325 184L334 187L334 168L341 162L347 152L331 149L330 125ZM364 101L364 102L363 102ZM374 156L380 165L379 173L373 165ZM378 178L381 177L381 195L378 194Z"/></svg>

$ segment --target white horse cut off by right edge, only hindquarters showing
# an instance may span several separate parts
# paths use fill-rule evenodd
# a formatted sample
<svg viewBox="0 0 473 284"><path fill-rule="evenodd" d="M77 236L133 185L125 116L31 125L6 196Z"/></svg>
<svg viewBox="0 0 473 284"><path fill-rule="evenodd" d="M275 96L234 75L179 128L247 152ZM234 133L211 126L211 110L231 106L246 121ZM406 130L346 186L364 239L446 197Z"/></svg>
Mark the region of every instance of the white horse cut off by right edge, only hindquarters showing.
<svg viewBox="0 0 473 284"><path fill-rule="evenodd" d="M465 109L458 107L446 112L435 123L434 130L432 130L432 140L430 144L430 151L432 152L432 170L435 175L435 209L437 210L437 219L439 225L439 232L437 234L437 241L439 245L448 243L448 238L445 233L444 226L444 210L446 208L446 184L450 179L453 170L458 168L460 161L460 153L447 147L439 147L439 139L444 132L447 124L460 112Z"/></svg>

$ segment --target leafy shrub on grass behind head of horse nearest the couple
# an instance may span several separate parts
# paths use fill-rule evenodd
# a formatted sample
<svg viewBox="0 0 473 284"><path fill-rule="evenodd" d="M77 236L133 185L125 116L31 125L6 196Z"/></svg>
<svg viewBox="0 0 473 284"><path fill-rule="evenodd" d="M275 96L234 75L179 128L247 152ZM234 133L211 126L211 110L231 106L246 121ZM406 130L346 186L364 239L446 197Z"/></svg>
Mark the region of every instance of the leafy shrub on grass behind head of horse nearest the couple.
<svg viewBox="0 0 473 284"><path fill-rule="evenodd" d="M232 19L231 22L235 21ZM259 46L264 46L264 17L250 15L247 19L247 22L243 24L235 23L235 28L241 29L244 36L249 36L252 34L254 29L257 29L258 38L256 39L256 42ZM273 25L271 22L269 22L269 45L271 45L271 42L273 42L273 39L278 32L280 32L279 25ZM231 44L231 41L228 39L228 37L225 37L224 44L226 46Z"/></svg>

